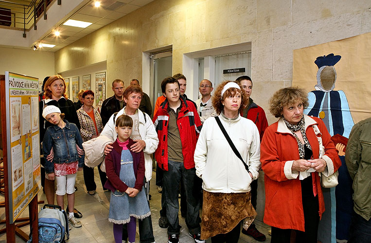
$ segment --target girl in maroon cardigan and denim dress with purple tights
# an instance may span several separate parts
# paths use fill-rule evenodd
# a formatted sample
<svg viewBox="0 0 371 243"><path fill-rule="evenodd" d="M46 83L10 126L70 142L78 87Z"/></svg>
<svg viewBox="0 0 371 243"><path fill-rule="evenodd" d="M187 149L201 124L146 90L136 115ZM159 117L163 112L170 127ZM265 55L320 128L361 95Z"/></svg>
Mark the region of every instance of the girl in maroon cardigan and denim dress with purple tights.
<svg viewBox="0 0 371 243"><path fill-rule="evenodd" d="M113 150L106 156L105 188L112 191L108 221L113 223L113 236L116 243L122 242L123 224L127 225L129 243L135 242L136 218L144 219L151 215L145 193L144 154L130 151L134 143L130 139L133 120L121 115L116 120L118 138Z"/></svg>

